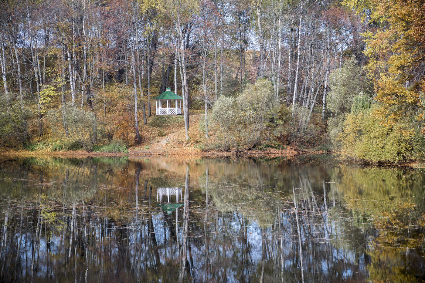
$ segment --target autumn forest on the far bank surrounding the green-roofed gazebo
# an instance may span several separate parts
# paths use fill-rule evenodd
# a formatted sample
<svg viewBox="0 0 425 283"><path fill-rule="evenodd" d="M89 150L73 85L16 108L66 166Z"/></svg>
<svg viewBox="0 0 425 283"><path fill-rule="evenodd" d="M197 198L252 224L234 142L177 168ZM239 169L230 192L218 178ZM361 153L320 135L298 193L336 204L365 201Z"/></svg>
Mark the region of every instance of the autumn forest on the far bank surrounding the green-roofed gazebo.
<svg viewBox="0 0 425 283"><path fill-rule="evenodd" d="M422 160L424 4L1 1L1 147L125 153L180 130L203 151ZM155 115L167 87L182 116Z"/></svg>

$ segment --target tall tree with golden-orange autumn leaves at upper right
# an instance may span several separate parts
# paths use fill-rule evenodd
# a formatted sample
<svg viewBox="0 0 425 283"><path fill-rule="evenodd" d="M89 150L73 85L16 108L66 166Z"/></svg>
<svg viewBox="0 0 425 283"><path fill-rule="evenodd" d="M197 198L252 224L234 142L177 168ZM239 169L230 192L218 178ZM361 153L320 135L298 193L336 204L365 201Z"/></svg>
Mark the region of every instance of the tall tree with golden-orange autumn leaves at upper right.
<svg viewBox="0 0 425 283"><path fill-rule="evenodd" d="M365 53L380 116L389 125L403 119L425 132L425 1L343 0L368 20Z"/></svg>

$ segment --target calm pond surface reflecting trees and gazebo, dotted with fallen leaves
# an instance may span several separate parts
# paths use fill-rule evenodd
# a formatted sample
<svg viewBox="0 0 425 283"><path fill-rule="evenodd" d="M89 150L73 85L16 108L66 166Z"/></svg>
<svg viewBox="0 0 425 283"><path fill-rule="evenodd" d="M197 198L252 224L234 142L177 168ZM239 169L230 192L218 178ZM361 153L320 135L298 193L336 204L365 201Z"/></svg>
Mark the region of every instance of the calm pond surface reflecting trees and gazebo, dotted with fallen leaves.
<svg viewBox="0 0 425 283"><path fill-rule="evenodd" d="M424 282L425 178L394 167L0 160L1 282Z"/></svg>

